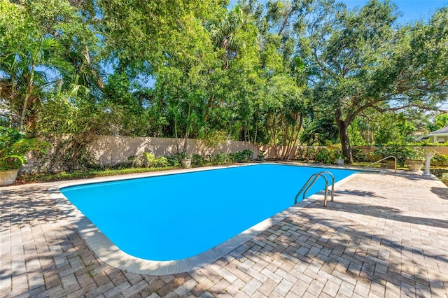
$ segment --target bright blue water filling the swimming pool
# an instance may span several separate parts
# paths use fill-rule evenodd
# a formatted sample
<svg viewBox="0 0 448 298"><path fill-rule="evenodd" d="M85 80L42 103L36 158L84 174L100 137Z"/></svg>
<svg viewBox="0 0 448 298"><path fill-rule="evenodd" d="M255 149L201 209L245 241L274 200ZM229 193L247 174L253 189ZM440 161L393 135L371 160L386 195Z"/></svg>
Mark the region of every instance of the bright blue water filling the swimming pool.
<svg viewBox="0 0 448 298"><path fill-rule="evenodd" d="M309 176L322 170L258 164L78 185L61 192L125 253L181 260L292 206ZM354 173L325 170L336 181ZM323 188L319 179L307 196Z"/></svg>

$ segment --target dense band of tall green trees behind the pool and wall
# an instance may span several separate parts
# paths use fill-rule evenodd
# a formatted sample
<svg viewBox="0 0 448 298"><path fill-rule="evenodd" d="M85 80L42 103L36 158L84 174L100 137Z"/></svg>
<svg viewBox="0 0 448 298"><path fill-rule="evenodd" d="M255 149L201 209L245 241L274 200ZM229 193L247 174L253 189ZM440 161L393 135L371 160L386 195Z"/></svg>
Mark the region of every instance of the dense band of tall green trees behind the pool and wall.
<svg viewBox="0 0 448 298"><path fill-rule="evenodd" d="M334 1L0 1L0 123L51 140L70 134L51 157L65 171L91 166L85 150L101 134L183 139L178 152L189 138L211 148L238 139L284 146L281 159L299 136L339 140L350 160L351 145L405 144L422 131L421 111L446 99L447 8L428 22L396 17L393 3L376 0L353 10Z"/></svg>

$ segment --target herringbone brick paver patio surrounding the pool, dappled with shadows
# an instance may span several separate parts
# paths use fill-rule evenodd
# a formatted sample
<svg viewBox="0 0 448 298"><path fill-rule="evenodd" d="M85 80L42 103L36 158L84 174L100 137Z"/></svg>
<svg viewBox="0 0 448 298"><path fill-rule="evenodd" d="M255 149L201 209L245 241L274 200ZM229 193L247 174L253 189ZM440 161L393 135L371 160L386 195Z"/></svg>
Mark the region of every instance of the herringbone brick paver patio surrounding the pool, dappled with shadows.
<svg viewBox="0 0 448 298"><path fill-rule="evenodd" d="M358 173L297 213L184 274L105 264L55 201L57 183L0 187L1 297L448 297L448 188Z"/></svg>

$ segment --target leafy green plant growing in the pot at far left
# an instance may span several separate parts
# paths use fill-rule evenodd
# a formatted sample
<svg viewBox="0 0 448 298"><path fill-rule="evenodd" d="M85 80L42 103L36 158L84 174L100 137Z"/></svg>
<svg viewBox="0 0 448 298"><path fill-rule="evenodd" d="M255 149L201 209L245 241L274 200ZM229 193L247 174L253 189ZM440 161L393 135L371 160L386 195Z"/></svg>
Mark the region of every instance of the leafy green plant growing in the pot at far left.
<svg viewBox="0 0 448 298"><path fill-rule="evenodd" d="M27 163L32 150L45 152L48 143L29 139L24 133L8 127L0 127L0 171L21 169Z"/></svg>

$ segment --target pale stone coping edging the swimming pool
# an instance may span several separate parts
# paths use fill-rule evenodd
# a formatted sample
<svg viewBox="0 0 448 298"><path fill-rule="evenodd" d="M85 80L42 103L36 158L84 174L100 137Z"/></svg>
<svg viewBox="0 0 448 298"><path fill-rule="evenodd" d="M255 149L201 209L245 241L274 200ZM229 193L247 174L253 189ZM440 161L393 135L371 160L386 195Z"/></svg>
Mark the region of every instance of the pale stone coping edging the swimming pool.
<svg viewBox="0 0 448 298"><path fill-rule="evenodd" d="M279 163L270 163L265 162L264 164L279 164ZM102 178L93 178L89 180L72 180L69 182L64 182L58 184L57 188L50 188L49 192L53 199L57 202L63 202L64 204L58 204L67 215L69 221L78 229L80 235L85 239L87 246L89 246L94 253L99 257L100 260L109 264L112 267L117 269L121 269L124 271L132 272L135 274L148 274L148 275L167 275L167 274L179 274L183 272L193 271L195 269L206 266L207 264L218 260L220 257L230 253L235 248L238 248L246 241L253 239L253 237L262 233L263 231L269 229L277 222L288 218L288 216L293 215L300 211L300 208L308 206L309 204L323 204L322 195L323 191L318 192L316 194L307 197L297 204L286 208L285 210L276 213L270 218L263 220L262 222L258 222L258 224L253 225L252 227L246 229L244 232L233 236L232 238L224 241L218 246L207 250L204 253L200 253L199 255L195 255L194 257L188 257L182 260L172 260L172 261L153 261L153 260L144 260L139 257L134 257L129 255L123 250L120 250L115 244L113 244L109 238L104 235L101 230L99 230L81 211L76 208L71 201L67 199L62 192L59 190L63 187L69 187L74 185L85 185L91 183L104 183L109 181L117 181L117 180L129 180L134 178L148 178L154 176L165 176L172 175L178 173L190 173L195 171L208 171L214 169L226 169L229 167L235 166L252 166L256 164L238 164L238 165L230 165L230 166L207 166L202 168L195 169L181 169L181 170L171 170L171 171L163 171L163 172L151 172L151 173L139 173L133 175L126 176L109 176ZM293 164L288 163L288 165L296 165L296 166L310 166L308 164ZM315 166L322 167L322 166ZM325 166L325 168L332 169L347 169L353 170L348 167L342 168L341 166ZM359 171L359 169L357 169ZM346 183L352 178L356 177L358 173L353 173L350 176L339 180L335 183L335 187L342 183Z"/></svg>

